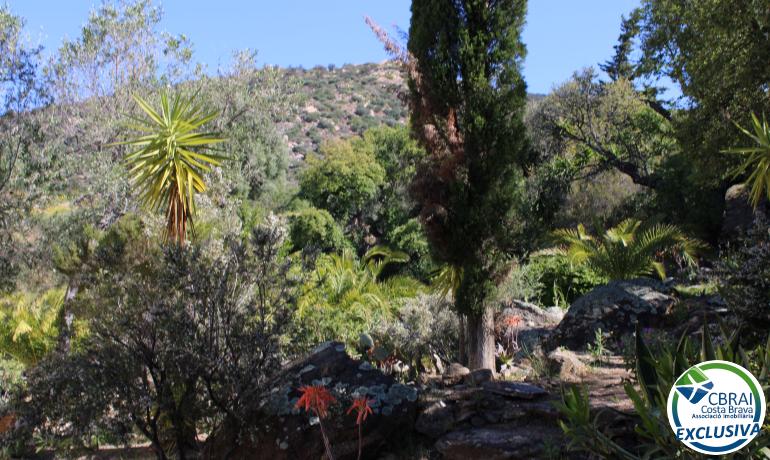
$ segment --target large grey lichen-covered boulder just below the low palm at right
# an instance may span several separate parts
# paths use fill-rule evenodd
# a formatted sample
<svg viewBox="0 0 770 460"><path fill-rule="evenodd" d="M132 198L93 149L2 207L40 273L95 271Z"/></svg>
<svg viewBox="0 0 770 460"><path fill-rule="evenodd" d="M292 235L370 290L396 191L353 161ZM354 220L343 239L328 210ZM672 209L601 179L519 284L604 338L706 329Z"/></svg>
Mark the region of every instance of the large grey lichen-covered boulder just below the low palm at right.
<svg viewBox="0 0 770 460"><path fill-rule="evenodd" d="M642 326L657 325L676 302L660 281L639 278L612 281L577 299L546 341L546 348L572 350L593 343L596 330L620 336Z"/></svg>

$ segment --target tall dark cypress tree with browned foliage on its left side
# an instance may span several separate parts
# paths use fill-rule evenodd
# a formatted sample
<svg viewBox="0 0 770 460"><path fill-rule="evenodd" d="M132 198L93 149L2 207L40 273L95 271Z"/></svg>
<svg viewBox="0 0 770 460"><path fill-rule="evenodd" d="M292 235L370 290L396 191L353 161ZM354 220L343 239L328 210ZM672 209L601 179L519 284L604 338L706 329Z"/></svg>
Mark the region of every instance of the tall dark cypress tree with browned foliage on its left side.
<svg viewBox="0 0 770 460"><path fill-rule="evenodd" d="M522 120L526 0L413 0L412 129L428 156L413 197L432 251L462 270L471 368L494 369L490 305L515 248L507 223L530 162Z"/></svg>

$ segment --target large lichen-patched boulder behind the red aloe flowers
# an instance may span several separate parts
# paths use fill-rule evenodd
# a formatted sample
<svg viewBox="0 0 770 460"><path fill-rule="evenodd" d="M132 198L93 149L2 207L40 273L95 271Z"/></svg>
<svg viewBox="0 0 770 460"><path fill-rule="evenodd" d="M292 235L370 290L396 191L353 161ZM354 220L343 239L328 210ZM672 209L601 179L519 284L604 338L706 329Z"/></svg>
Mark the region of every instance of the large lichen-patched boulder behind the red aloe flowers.
<svg viewBox="0 0 770 460"><path fill-rule="evenodd" d="M358 428L355 415L346 414L353 397L372 399L373 414L363 424L364 452L378 452L383 446L398 445L409 433L417 416L416 388L396 382L368 362L352 359L345 346L325 343L307 358L288 367L274 380L272 391L256 405L250 417L249 439L220 428L207 442L207 458L319 459L324 445L318 419L295 408L299 388L324 385L337 403L323 420L334 457L352 459L357 455Z"/></svg>

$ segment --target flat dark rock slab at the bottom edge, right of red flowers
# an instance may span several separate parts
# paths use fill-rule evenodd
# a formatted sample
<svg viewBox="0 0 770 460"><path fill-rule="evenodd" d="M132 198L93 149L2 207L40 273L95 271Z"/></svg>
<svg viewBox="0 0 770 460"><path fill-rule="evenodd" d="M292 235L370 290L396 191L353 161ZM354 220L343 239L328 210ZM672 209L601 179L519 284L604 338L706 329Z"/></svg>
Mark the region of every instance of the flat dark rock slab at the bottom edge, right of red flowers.
<svg viewBox="0 0 770 460"><path fill-rule="evenodd" d="M531 459L544 454L547 444L558 445L561 439L556 425L494 425L453 431L435 447L446 460Z"/></svg>

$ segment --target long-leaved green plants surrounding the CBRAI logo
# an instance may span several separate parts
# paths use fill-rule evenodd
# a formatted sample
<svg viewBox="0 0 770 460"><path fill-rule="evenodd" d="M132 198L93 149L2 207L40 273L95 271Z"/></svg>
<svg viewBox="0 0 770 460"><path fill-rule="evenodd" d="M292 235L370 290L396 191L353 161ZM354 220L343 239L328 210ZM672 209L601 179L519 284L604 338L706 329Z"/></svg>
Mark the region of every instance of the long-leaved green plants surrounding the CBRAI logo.
<svg viewBox="0 0 770 460"><path fill-rule="evenodd" d="M719 328L721 340L714 341L709 325L704 321L699 345L693 343L688 331L685 331L675 345L653 354L642 338L637 323L634 371L639 389L631 382L624 384L626 395L633 403L637 416L635 447L621 446L615 440L614 433L601 428L601 414L591 414L587 394L578 387L566 389L562 401L556 404L563 417L559 424L570 439L570 447L591 452L601 458L624 460L707 458L679 442L669 426L666 401L675 380L698 362L719 359L749 369L757 376L766 393L770 383L770 337L766 344L745 350L739 343L740 328L732 333L728 333L722 323ZM767 458L765 452L768 446L770 433L763 430L749 447L725 458Z"/></svg>

